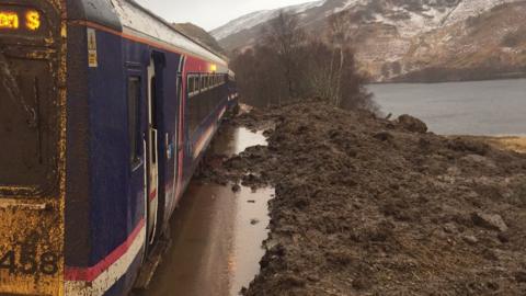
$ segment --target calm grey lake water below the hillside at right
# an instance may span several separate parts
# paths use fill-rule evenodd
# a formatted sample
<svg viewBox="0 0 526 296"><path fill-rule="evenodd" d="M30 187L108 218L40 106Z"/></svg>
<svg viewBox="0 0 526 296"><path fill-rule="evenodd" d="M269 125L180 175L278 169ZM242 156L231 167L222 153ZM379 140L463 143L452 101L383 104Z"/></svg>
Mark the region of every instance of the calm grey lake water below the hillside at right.
<svg viewBox="0 0 526 296"><path fill-rule="evenodd" d="M385 114L411 114L442 135L526 135L526 79L371 84Z"/></svg>

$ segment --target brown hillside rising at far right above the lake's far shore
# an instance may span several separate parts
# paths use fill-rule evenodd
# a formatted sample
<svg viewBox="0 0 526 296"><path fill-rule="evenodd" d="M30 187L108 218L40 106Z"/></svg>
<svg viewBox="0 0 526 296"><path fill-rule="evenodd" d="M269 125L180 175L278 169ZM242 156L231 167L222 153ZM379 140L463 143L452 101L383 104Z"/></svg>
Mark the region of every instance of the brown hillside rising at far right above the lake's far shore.
<svg viewBox="0 0 526 296"><path fill-rule="evenodd" d="M489 33L491 32L491 33ZM396 80L514 78L526 73L526 1L503 4L414 39Z"/></svg>

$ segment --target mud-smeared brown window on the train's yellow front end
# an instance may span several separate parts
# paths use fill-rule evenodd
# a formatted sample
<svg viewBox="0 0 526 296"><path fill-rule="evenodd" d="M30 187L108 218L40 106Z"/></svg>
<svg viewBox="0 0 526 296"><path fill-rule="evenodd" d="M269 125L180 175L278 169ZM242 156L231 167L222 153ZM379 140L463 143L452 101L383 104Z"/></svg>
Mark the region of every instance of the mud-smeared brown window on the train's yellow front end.
<svg viewBox="0 0 526 296"><path fill-rule="evenodd" d="M48 60L0 50L0 193L37 194L56 184L59 95L49 73Z"/></svg>

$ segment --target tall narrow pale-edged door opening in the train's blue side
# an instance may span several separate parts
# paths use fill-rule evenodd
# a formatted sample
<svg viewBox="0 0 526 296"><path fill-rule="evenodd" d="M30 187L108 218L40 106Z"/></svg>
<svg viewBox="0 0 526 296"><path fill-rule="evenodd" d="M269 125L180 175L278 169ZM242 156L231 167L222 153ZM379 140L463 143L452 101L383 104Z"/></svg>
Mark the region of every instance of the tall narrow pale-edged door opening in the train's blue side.
<svg viewBox="0 0 526 296"><path fill-rule="evenodd" d="M156 62L150 59L147 70L148 79L148 129L146 137L147 146L147 223L148 223L148 242L152 244L156 239L157 215L159 208L159 149L158 149L158 116L157 116L157 83L156 83Z"/></svg>

